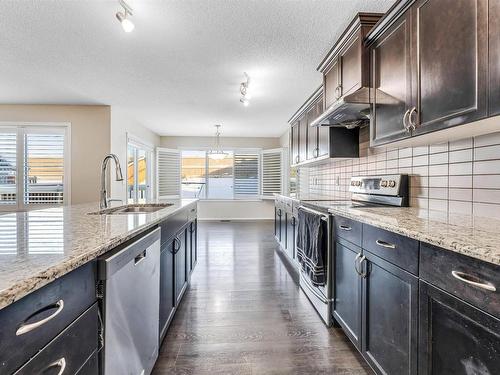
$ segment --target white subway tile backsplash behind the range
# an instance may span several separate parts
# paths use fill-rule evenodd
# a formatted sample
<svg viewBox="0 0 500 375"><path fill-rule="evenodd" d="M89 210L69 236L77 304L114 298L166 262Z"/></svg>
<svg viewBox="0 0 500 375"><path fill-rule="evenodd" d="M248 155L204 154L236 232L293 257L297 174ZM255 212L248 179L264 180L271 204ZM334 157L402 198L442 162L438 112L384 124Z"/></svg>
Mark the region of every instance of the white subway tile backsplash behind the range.
<svg viewBox="0 0 500 375"><path fill-rule="evenodd" d="M500 218L500 132L401 149L364 146L360 158L308 167L301 194L350 199L353 175L407 173L413 207L437 210L443 220L450 212Z"/></svg>

